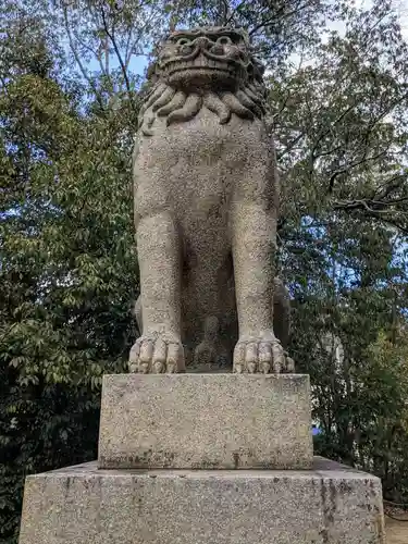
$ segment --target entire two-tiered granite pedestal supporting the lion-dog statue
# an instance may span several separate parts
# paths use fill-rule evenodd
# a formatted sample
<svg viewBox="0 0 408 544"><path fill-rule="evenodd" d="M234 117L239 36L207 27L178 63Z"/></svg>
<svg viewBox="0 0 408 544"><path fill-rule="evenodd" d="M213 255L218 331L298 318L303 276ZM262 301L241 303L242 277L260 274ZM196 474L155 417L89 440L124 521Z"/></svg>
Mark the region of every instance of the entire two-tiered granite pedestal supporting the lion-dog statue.
<svg viewBox="0 0 408 544"><path fill-rule="evenodd" d="M106 376L98 462L27 478L20 544L385 544L310 426L308 376Z"/></svg>

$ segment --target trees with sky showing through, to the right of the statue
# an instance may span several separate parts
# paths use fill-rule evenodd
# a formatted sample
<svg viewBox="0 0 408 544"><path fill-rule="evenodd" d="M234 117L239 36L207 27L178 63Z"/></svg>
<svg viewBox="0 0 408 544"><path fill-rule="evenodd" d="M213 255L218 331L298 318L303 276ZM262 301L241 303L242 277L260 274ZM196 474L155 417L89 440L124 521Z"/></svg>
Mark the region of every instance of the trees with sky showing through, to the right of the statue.
<svg viewBox="0 0 408 544"><path fill-rule="evenodd" d="M388 498L406 497L408 484L400 408L408 302L406 51L390 5L374 4L351 13L345 35L330 35L312 60L299 55L297 65L270 79L284 194L281 262L294 296L292 353L311 374L322 429L317 447L381 475ZM390 367L380 369L379 345L393 353ZM397 392L391 393L390 373ZM390 437L384 425L398 431Z"/></svg>

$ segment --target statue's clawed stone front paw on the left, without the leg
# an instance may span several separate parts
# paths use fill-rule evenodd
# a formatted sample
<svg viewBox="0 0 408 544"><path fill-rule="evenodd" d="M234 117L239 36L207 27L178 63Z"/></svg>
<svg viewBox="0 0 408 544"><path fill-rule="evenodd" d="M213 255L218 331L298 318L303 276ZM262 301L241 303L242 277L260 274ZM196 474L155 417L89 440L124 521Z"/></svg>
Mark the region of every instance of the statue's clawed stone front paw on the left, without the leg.
<svg viewBox="0 0 408 544"><path fill-rule="evenodd" d="M129 354L129 371L162 374L185 371L184 349L175 335L152 333L143 335Z"/></svg>

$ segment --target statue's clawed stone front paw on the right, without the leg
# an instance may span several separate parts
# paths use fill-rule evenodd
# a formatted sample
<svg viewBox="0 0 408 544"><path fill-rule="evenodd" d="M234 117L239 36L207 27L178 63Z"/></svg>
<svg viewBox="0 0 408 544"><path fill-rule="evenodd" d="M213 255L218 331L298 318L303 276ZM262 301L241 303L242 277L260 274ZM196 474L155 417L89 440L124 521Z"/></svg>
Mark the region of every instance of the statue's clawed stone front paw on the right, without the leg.
<svg viewBox="0 0 408 544"><path fill-rule="evenodd" d="M294 372L295 364L273 333L242 337L234 349L234 372L275 374Z"/></svg>

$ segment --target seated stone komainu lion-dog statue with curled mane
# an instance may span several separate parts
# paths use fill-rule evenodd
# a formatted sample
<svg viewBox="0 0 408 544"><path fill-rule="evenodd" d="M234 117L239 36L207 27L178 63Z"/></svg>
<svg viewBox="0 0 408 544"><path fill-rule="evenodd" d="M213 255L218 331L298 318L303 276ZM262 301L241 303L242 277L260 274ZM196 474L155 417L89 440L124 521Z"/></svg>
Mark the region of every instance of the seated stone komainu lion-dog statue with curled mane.
<svg viewBox="0 0 408 544"><path fill-rule="evenodd" d="M131 371L232 359L235 372L292 371L274 279L275 154L247 34L174 32L153 77L134 153L141 336Z"/></svg>

